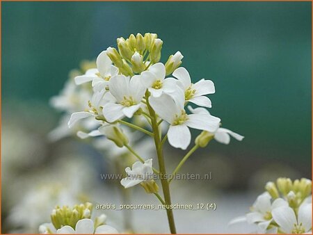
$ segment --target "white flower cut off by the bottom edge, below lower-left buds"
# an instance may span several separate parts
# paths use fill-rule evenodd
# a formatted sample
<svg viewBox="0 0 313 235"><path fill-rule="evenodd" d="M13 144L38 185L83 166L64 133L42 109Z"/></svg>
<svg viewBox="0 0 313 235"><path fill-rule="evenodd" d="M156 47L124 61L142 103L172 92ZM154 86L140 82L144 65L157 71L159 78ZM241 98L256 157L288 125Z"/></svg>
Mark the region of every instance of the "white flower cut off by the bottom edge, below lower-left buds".
<svg viewBox="0 0 313 235"><path fill-rule="evenodd" d="M79 220L75 229L65 225L57 230L57 234L118 234L118 231L109 225L100 225L95 229L93 220Z"/></svg>

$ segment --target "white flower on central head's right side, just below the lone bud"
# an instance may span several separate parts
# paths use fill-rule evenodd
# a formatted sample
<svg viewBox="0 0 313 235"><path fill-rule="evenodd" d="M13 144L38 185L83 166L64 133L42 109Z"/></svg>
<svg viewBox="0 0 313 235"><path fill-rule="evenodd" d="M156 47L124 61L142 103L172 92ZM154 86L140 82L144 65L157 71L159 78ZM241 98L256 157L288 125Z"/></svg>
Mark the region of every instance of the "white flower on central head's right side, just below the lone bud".
<svg viewBox="0 0 313 235"><path fill-rule="evenodd" d="M188 102L211 108L211 100L204 96L215 93L214 83L211 80L201 79L195 84L191 83L188 71L184 67L179 67L172 73L180 83L178 83L185 92L185 99Z"/></svg>

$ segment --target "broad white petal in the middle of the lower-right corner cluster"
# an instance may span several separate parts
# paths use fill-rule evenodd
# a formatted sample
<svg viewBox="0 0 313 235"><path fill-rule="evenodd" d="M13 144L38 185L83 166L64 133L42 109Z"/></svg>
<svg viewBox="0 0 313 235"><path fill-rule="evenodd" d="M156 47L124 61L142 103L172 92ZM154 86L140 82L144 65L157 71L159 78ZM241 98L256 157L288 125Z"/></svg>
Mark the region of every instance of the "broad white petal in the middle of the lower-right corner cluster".
<svg viewBox="0 0 313 235"><path fill-rule="evenodd" d="M297 223L296 215L294 214L293 209L289 206L281 206L273 209L272 216L275 222L280 225L283 232L291 234L294 224Z"/></svg>

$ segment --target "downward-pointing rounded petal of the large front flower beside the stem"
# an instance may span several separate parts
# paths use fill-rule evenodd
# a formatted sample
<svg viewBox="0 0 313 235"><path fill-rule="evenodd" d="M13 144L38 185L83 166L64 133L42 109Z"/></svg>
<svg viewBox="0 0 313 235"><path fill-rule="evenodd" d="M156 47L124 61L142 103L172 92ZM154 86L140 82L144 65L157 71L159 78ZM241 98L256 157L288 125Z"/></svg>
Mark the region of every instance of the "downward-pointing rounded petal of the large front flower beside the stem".
<svg viewBox="0 0 313 235"><path fill-rule="evenodd" d="M170 143L172 147L186 149L190 142L191 133L186 125L170 126L168 129L168 143Z"/></svg>

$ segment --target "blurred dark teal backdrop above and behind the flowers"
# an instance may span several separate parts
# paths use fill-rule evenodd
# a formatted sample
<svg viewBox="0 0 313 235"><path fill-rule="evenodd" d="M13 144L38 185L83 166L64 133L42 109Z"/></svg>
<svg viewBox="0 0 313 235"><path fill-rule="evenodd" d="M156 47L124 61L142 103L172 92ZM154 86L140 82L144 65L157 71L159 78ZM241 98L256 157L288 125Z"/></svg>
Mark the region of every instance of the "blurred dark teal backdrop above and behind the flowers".
<svg viewBox="0 0 313 235"><path fill-rule="evenodd" d="M215 83L211 113L246 136L225 147L214 143L213 151L252 168L259 159L283 161L311 176L310 2L1 5L3 113L13 108L6 106L10 99L48 106L67 73L115 46L116 38L158 33L163 62L181 51L193 79Z"/></svg>

